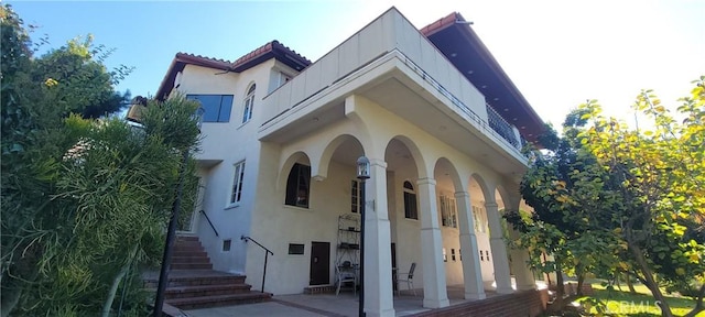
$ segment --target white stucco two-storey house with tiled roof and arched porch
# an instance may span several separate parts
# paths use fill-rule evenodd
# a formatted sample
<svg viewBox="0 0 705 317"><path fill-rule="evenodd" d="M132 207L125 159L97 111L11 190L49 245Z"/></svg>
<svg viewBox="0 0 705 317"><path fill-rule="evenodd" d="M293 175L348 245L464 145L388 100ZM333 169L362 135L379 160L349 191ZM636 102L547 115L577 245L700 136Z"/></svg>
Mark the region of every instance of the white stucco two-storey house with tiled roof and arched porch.
<svg viewBox="0 0 705 317"><path fill-rule="evenodd" d="M392 8L314 63L276 41L235 62L180 53L156 97L172 91L205 109L203 212L186 231L214 269L260 284L264 251L246 236L274 253L267 292L335 285L358 264L365 206L368 316L394 316L406 285L392 275L412 263L424 307L448 306L447 285L534 287L500 211L520 208L520 149L543 122L459 13L417 30Z"/></svg>

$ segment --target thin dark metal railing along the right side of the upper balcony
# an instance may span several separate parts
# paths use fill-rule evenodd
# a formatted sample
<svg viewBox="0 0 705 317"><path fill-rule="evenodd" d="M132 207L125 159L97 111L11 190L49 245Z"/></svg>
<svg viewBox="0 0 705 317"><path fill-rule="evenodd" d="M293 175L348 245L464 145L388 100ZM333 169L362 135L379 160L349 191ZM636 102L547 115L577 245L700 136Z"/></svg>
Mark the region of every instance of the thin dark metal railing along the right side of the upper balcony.
<svg viewBox="0 0 705 317"><path fill-rule="evenodd" d="M431 77L419 65L416 65L414 62L409 59L409 57L406 57L403 53L399 51L397 52L402 56L404 56L404 63L409 65L414 70L414 73L419 74L419 76L421 76L423 80L425 80L431 86L436 88L436 90L441 92L441 95L448 98L451 103L456 106L460 111L463 111L463 113L469 117L468 119L470 119L471 121L475 121L479 127L490 132L491 134L500 136L501 139L507 141L507 143L509 143L511 147L517 151L517 153L525 157L525 155L521 153L522 145L520 144L520 141L517 140L512 125L509 124L509 122L507 122L499 113L497 113L495 109L492 109L489 105L486 103L488 121L487 122L484 121L479 116L477 116L477 113L475 113L475 111L473 111L470 107L468 107L467 105L465 105L465 102L463 102L460 99L455 97L451 91L448 91L448 89L443 87L443 85L441 85L441 83L438 83L436 79L433 79L433 77Z"/></svg>

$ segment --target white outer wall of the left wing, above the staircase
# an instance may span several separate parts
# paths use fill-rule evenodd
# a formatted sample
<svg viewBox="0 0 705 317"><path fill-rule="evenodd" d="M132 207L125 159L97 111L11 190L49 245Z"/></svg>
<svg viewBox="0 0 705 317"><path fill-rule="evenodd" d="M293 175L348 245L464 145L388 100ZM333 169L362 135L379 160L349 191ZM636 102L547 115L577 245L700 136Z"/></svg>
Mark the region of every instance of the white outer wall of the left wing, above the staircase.
<svg viewBox="0 0 705 317"><path fill-rule="evenodd" d="M234 95L228 122L203 123L200 151L196 154L196 160L204 166L199 171L205 185L200 208L214 223L219 237L199 214L194 218L194 231L198 233L215 270L245 273L247 244L240 243L240 237L250 234L260 152L256 134L263 116L262 98L270 85L273 66L274 61L268 61L236 74L186 65L177 77L177 90L185 95ZM257 85L252 119L242 123L243 97L252 83ZM235 164L241 161L245 161L243 194L240 203L231 206L229 197ZM224 240L231 240L230 251L223 251Z"/></svg>

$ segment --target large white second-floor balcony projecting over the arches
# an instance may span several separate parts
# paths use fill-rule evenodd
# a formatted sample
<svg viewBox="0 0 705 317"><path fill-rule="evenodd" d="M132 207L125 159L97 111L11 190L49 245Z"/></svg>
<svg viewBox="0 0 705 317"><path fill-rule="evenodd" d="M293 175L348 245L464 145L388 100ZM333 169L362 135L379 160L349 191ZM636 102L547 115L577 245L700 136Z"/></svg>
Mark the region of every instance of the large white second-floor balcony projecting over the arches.
<svg viewBox="0 0 705 317"><path fill-rule="evenodd" d="M496 111L503 107L502 101L490 106L456 65L395 9L265 97L267 113L258 138L285 142L341 120L344 100L352 94L469 155L494 152L513 164L527 163L520 152L520 130Z"/></svg>

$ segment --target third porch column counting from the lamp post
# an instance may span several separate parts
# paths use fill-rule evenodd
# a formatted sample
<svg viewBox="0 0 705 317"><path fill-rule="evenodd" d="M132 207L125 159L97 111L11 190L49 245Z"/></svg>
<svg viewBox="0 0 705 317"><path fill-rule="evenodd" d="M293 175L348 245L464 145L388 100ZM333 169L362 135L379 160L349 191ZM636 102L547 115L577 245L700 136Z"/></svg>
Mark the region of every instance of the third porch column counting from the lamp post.
<svg viewBox="0 0 705 317"><path fill-rule="evenodd" d="M487 296L482 286L480 261L477 258L479 250L477 248L477 237L475 236L475 219L473 219L470 195L467 192L456 192L455 201L460 225L460 251L466 254L465 261L463 261L465 299L482 299Z"/></svg>

